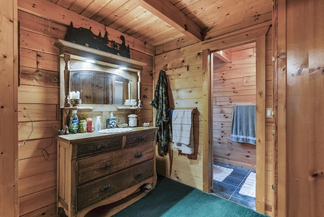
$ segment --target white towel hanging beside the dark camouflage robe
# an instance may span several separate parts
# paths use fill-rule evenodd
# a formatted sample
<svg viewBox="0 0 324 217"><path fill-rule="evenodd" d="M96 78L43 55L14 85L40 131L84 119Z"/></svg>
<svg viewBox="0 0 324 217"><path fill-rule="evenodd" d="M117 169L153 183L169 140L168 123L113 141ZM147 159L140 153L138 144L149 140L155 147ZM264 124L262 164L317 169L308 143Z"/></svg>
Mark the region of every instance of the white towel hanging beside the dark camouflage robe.
<svg viewBox="0 0 324 217"><path fill-rule="evenodd" d="M194 153L192 110L179 109L172 113L173 148L183 154Z"/></svg>

